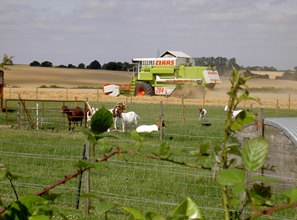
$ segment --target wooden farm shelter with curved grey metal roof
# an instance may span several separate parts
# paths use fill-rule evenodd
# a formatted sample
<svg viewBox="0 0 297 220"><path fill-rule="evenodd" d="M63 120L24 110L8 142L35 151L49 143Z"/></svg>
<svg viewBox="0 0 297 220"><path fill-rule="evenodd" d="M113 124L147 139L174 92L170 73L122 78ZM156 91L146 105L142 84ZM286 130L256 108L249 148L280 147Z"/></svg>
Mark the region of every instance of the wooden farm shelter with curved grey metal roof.
<svg viewBox="0 0 297 220"><path fill-rule="evenodd" d="M277 187L291 188L297 184L297 118L265 118L263 126L250 124L238 134L240 142L264 136L269 142L269 155L262 173L281 180Z"/></svg>

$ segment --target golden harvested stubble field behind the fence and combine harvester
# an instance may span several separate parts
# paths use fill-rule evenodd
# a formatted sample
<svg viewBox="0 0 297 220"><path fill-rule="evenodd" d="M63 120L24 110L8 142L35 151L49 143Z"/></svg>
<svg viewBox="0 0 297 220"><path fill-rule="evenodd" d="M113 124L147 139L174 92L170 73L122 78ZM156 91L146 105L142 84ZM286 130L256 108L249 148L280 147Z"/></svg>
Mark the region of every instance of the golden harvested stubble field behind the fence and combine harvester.
<svg viewBox="0 0 297 220"><path fill-rule="evenodd" d="M4 99L18 98L20 95L23 99L125 101L127 97L122 95L104 95L102 87L104 84L128 84L131 77L132 73L122 71L14 65L5 71ZM206 105L226 105L229 77L222 76L221 80L222 83L215 89L207 90L204 100L201 89L186 87L175 91L170 97L133 97L133 101L180 103L183 98L185 104L203 105L204 102ZM253 103L256 107L297 108L297 81L255 78L248 81L248 87L251 95L261 100L261 104Z"/></svg>

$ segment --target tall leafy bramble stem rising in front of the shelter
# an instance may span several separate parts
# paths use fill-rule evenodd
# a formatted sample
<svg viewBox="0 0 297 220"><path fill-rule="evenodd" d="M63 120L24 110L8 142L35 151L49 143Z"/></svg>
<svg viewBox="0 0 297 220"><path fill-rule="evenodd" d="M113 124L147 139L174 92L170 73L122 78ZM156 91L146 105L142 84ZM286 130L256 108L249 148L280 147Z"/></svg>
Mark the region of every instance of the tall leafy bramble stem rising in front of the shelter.
<svg viewBox="0 0 297 220"><path fill-rule="evenodd" d="M249 96L246 86L248 79L238 74L237 70L233 70L230 80L231 89L228 92L229 103L224 142L222 148L215 151L220 168L216 180L222 187L226 220L243 219L246 207L257 206L260 209L271 207L271 186L264 184L277 182L273 178L254 174L264 166L269 152L268 142L263 137L256 137L249 139L241 146L237 138L233 136L234 132L240 131L244 125L256 120L256 115L246 109L240 112L234 120L232 119L232 112L241 102L258 101L257 98ZM237 159L242 161L239 167L236 163ZM287 193L287 195L290 193L292 195L294 190ZM253 213L244 215L245 218L248 216L247 219L253 218Z"/></svg>

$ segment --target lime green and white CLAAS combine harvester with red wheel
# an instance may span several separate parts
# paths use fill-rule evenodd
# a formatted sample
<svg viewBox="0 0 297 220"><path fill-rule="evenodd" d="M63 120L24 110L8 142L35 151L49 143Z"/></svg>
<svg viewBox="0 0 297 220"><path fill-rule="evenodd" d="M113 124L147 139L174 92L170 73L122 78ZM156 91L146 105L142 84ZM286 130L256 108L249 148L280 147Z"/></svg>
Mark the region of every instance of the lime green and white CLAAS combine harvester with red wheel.
<svg viewBox="0 0 297 220"><path fill-rule="evenodd" d="M213 89L221 83L219 73L210 67L195 66L194 60L179 51L166 51L159 58L135 58L130 85L105 85L106 95L169 96L183 85Z"/></svg>

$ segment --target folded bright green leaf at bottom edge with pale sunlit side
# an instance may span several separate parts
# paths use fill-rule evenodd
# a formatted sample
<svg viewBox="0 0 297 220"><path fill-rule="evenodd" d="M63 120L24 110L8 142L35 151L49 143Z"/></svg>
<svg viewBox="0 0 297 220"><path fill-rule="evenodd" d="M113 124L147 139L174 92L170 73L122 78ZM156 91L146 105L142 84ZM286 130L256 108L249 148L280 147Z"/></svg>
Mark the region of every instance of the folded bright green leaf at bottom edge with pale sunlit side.
<svg viewBox="0 0 297 220"><path fill-rule="evenodd" d="M190 198L182 201L170 214L169 219L203 219L196 203Z"/></svg>

